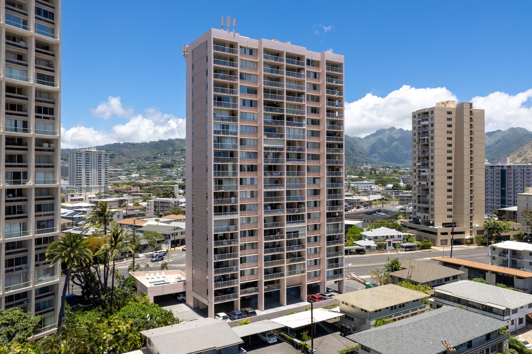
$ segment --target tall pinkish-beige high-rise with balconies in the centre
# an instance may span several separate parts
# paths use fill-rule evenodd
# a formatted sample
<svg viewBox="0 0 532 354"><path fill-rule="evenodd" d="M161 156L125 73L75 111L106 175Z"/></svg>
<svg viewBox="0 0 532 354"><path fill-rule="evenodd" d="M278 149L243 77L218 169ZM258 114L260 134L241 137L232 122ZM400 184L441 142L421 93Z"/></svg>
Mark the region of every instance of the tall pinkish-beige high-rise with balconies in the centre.
<svg viewBox="0 0 532 354"><path fill-rule="evenodd" d="M343 290L344 57L219 29L183 50L188 304Z"/></svg>

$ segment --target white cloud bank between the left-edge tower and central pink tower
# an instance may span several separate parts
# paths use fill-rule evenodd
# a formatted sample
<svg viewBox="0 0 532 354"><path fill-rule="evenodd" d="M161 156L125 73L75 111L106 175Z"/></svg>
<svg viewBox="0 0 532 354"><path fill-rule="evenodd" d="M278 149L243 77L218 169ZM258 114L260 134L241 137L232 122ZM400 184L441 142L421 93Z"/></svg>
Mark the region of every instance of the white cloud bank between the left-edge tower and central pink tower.
<svg viewBox="0 0 532 354"><path fill-rule="evenodd" d="M107 117L104 119L109 119L111 115L117 115L126 117L128 121L113 125L107 130L84 127L82 123L70 129L62 127L61 145L63 148L81 148L125 141L140 142L185 138L184 119L162 113L153 107L145 109L144 115L134 114L133 109L126 109L122 106L120 97L109 97L108 102L101 103L97 108L91 109L93 114L96 111L100 114L99 116Z"/></svg>

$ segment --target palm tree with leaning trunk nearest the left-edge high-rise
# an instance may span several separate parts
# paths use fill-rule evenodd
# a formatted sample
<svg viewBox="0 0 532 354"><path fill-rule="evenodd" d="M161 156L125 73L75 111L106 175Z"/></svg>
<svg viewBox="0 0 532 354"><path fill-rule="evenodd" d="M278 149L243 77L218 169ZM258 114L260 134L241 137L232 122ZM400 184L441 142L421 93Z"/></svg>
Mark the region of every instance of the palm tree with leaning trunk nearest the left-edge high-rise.
<svg viewBox="0 0 532 354"><path fill-rule="evenodd" d="M68 289L72 267L92 262L93 252L90 250L84 235L67 232L58 241L52 242L46 251L46 258L52 261L51 267L57 262L61 262L65 269L65 283L61 294L59 317L57 318L57 334L59 334L65 307L66 289Z"/></svg>

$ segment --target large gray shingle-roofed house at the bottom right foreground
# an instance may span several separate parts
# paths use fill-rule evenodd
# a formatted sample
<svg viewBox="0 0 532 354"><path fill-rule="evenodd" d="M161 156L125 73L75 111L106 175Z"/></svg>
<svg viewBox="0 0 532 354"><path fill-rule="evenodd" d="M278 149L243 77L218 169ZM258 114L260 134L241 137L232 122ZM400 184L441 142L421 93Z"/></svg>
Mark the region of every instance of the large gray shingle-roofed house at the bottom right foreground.
<svg viewBox="0 0 532 354"><path fill-rule="evenodd" d="M500 319L446 306L418 316L348 335L359 343L359 354L442 354L445 340L457 353L504 352L508 333Z"/></svg>

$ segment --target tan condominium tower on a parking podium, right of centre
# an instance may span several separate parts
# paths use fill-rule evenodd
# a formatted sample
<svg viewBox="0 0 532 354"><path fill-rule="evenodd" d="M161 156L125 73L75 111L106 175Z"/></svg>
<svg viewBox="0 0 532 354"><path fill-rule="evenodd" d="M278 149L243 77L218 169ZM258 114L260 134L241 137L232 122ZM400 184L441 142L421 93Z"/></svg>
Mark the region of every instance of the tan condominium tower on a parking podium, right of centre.
<svg viewBox="0 0 532 354"><path fill-rule="evenodd" d="M463 244L484 223L484 109L438 102L412 113L412 220L435 246ZM453 228L454 226L454 228Z"/></svg>

